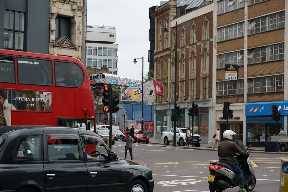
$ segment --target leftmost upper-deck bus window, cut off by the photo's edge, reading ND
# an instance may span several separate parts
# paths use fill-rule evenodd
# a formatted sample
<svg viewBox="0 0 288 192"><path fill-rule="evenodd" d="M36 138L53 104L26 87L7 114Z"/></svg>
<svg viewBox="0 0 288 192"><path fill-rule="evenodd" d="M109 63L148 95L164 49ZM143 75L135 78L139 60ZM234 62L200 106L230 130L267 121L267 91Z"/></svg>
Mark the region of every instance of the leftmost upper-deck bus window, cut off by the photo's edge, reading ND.
<svg viewBox="0 0 288 192"><path fill-rule="evenodd" d="M0 82L16 83L14 58L0 56Z"/></svg>

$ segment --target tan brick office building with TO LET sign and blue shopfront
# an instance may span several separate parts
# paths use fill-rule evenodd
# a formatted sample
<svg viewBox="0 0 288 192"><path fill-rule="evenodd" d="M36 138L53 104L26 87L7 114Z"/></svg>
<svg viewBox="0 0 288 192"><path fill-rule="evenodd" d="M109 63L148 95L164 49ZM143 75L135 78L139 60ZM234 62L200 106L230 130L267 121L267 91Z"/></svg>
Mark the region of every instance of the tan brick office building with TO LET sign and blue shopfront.
<svg viewBox="0 0 288 192"><path fill-rule="evenodd" d="M285 0L214 0L213 132L227 129L227 101L234 111L228 128L247 145L264 146L280 127L287 132L287 6ZM227 80L225 65L237 65L237 79ZM272 105L282 110L277 126Z"/></svg>

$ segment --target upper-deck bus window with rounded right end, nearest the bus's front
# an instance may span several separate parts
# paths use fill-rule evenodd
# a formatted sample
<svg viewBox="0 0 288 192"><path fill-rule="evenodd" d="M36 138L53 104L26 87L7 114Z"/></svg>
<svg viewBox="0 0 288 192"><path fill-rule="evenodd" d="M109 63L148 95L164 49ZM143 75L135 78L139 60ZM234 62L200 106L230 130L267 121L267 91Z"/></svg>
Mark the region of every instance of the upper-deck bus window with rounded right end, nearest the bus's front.
<svg viewBox="0 0 288 192"><path fill-rule="evenodd" d="M84 72L76 63L55 61L56 86L79 87L84 82Z"/></svg>

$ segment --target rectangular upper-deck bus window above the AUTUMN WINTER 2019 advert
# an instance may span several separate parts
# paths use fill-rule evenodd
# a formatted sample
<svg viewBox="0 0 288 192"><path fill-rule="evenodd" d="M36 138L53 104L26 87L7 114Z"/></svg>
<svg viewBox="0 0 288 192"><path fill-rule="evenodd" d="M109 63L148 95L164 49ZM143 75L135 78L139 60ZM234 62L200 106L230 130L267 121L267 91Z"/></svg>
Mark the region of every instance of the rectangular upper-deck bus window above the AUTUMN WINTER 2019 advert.
<svg viewBox="0 0 288 192"><path fill-rule="evenodd" d="M33 58L17 58L18 83L53 85L52 61Z"/></svg>

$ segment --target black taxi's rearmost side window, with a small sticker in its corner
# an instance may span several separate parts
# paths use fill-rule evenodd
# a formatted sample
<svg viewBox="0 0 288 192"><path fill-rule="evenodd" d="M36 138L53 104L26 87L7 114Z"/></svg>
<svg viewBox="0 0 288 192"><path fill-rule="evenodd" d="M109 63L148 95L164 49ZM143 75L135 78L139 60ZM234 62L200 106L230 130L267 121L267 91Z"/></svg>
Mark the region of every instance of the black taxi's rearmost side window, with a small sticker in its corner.
<svg viewBox="0 0 288 192"><path fill-rule="evenodd" d="M33 135L23 137L17 145L14 155L16 160L41 160L42 157L42 136Z"/></svg>

